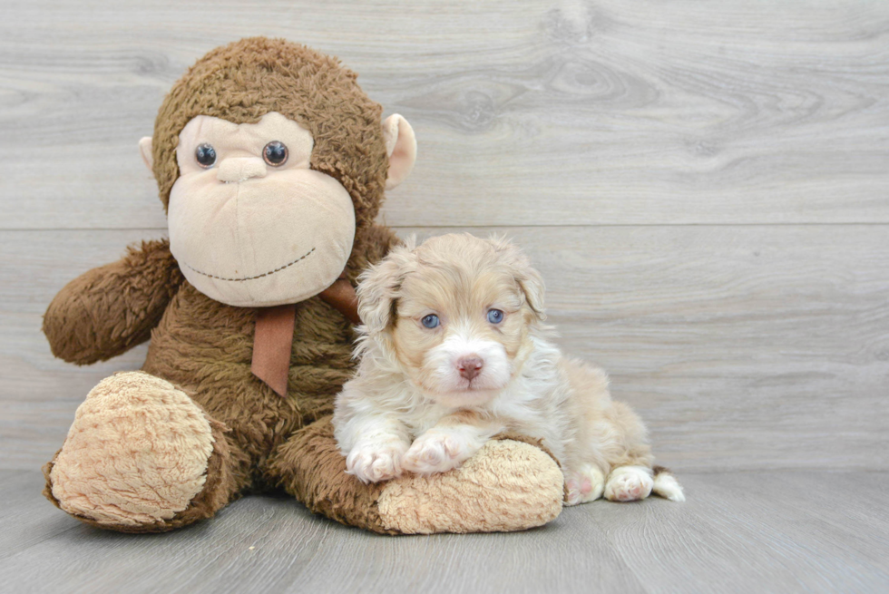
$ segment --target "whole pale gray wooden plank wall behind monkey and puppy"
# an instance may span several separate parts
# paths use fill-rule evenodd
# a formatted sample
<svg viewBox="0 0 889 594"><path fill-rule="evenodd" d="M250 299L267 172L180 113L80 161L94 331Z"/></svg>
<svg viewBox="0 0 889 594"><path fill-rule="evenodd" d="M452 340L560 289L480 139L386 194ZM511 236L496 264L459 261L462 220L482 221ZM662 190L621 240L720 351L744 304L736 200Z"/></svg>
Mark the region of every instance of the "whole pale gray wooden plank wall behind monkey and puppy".
<svg viewBox="0 0 889 594"><path fill-rule="evenodd" d="M574 355L663 463L889 468L889 4L4 2L0 467L34 469L89 388L54 293L165 220L136 142L210 48L338 55L413 123L381 219L506 232Z"/></svg>

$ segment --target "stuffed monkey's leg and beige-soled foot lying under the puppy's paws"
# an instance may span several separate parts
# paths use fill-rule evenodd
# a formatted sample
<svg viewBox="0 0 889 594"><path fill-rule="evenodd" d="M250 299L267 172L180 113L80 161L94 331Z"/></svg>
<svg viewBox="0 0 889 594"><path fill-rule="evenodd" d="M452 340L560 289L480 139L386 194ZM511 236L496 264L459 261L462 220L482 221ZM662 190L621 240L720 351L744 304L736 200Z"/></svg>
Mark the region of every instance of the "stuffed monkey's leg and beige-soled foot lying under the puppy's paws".
<svg viewBox="0 0 889 594"><path fill-rule="evenodd" d="M552 457L513 439L485 443L449 472L363 483L346 473L329 416L284 443L268 474L309 510L385 534L525 530L555 519L564 495Z"/></svg>

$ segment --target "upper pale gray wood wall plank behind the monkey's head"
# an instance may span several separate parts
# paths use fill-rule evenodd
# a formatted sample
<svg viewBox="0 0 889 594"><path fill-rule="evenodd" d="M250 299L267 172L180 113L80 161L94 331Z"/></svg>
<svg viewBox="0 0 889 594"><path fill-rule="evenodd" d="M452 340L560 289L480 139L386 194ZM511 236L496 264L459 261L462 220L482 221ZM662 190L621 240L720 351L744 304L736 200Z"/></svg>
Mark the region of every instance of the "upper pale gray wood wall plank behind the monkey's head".
<svg viewBox="0 0 889 594"><path fill-rule="evenodd" d="M337 54L413 122L396 226L889 222L884 2L43 0L4 15L2 229L163 228L136 142L190 63L250 34Z"/></svg>

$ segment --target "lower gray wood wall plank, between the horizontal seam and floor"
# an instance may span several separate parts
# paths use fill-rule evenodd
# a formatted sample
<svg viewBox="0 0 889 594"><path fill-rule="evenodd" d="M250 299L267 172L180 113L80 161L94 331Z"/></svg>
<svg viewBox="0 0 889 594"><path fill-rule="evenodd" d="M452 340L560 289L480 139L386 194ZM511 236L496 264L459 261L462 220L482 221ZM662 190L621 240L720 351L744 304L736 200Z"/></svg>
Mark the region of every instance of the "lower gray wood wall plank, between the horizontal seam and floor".
<svg viewBox="0 0 889 594"><path fill-rule="evenodd" d="M422 239L461 229L415 230ZM508 230L542 270L558 342L609 370L661 463L889 470L884 229ZM89 389L142 364L143 347L98 367L54 360L40 316L70 278L157 235L0 232L0 467L44 463Z"/></svg>

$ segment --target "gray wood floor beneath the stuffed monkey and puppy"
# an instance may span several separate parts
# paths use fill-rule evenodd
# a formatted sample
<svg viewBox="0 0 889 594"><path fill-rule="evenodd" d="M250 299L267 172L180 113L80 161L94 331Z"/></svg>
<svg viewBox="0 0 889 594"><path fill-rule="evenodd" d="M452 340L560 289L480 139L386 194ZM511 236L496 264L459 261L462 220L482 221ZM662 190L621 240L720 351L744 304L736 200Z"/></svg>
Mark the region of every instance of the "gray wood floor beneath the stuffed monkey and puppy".
<svg viewBox="0 0 889 594"><path fill-rule="evenodd" d="M0 583L15 592L879 592L889 474L687 474L682 504L596 501L512 534L380 537L248 497L182 531L84 526L0 472Z"/></svg>

